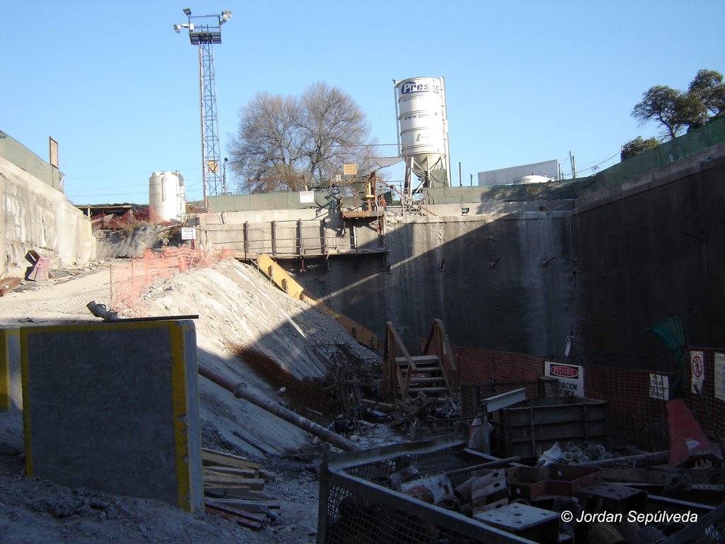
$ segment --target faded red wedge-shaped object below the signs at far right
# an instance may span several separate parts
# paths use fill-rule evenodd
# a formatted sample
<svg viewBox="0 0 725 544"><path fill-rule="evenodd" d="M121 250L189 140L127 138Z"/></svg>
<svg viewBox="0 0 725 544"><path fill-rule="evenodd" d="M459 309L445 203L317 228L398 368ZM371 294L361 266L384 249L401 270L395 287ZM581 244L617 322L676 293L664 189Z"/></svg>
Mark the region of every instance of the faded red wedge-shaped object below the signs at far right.
<svg viewBox="0 0 725 544"><path fill-rule="evenodd" d="M722 459L720 448L708 440L684 400L676 398L667 403L667 419L671 467L689 466L703 458Z"/></svg>

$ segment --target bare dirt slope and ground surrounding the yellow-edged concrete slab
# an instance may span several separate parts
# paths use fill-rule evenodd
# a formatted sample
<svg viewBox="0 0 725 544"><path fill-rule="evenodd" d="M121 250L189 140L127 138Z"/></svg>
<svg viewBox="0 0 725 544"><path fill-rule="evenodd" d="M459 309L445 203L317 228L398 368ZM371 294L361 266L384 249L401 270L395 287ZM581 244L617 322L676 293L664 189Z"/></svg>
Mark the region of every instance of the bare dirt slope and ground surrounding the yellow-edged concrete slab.
<svg viewBox="0 0 725 544"><path fill-rule="evenodd" d="M99 321L86 304L109 304L109 264L6 294L0 298L0 326ZM230 341L260 350L299 378L323 376L351 353L355 364L377 358L329 316L290 299L254 268L236 261L159 281L146 289L140 303L153 316L199 314L199 364L270 399L276 398L273 387L249 371ZM246 454L277 472L277 482L269 482L265 494L282 503L278 524L250 532L154 500L23 478L21 413L14 410L0 413L0 542L314 542L318 440L201 377L199 387L204 446Z"/></svg>

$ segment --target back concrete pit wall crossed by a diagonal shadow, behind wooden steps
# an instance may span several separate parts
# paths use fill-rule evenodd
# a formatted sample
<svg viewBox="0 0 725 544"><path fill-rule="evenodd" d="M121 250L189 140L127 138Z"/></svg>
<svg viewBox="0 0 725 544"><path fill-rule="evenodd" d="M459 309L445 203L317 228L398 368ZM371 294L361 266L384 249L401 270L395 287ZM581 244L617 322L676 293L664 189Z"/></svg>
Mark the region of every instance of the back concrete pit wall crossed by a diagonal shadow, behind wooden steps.
<svg viewBox="0 0 725 544"><path fill-rule="evenodd" d="M389 222L387 257L338 257L298 280L381 339L392 321L411 349L441 318L460 345L561 354L573 326L566 232L564 213Z"/></svg>

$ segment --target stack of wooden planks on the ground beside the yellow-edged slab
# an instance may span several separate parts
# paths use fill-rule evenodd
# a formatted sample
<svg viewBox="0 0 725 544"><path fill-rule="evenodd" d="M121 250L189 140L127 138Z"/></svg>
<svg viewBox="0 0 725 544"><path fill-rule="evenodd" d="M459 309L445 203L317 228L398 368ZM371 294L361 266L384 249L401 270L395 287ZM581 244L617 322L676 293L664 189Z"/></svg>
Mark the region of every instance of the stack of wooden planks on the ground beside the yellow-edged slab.
<svg viewBox="0 0 725 544"><path fill-rule="evenodd" d="M231 453L202 448L204 506L249 529L261 529L268 520L278 519L280 504L263 495L265 481L275 475L260 463Z"/></svg>

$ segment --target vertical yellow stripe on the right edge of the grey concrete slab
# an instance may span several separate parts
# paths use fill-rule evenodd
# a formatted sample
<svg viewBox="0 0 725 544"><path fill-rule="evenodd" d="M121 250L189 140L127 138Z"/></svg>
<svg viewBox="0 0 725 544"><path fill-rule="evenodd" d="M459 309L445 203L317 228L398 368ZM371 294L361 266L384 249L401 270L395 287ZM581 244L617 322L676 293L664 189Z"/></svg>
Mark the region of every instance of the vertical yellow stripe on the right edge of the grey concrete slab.
<svg viewBox="0 0 725 544"><path fill-rule="evenodd" d="M188 451L188 405L186 402L186 358L184 333L186 326L170 323L171 344L171 399L176 442L176 482L178 485L178 506L191 512L191 471Z"/></svg>

